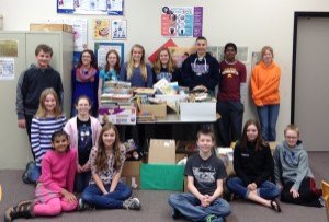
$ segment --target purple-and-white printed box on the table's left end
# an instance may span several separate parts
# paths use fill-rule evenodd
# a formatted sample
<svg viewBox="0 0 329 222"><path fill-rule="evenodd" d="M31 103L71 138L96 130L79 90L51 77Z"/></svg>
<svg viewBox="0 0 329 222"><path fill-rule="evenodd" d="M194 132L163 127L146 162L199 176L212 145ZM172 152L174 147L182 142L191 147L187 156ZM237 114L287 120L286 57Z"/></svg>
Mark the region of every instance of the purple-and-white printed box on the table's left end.
<svg viewBox="0 0 329 222"><path fill-rule="evenodd" d="M137 108L135 106L113 106L99 108L99 121L104 122L104 118L115 125L136 125Z"/></svg>

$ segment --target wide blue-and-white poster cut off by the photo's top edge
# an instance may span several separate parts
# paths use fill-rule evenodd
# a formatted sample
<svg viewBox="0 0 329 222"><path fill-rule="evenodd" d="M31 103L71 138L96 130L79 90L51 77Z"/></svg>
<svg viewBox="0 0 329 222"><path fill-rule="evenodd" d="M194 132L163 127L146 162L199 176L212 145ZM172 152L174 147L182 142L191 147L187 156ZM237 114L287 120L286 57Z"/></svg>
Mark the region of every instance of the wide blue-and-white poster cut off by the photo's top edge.
<svg viewBox="0 0 329 222"><path fill-rule="evenodd" d="M57 13L123 15L124 0L57 0Z"/></svg>

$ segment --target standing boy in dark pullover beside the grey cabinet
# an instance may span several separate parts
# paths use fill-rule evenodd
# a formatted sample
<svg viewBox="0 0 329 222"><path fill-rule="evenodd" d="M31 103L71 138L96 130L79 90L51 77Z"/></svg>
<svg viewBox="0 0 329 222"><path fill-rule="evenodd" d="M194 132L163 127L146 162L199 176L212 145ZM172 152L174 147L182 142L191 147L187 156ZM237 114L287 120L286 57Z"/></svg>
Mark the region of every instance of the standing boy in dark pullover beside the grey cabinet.
<svg viewBox="0 0 329 222"><path fill-rule="evenodd" d="M53 56L52 47L41 44L35 48L37 66L31 65L24 70L16 86L16 114L20 128L26 128L29 140L31 139L31 122L35 115L41 93L53 87L59 102L63 98L63 84L59 73L49 66ZM33 152L32 152L33 153Z"/></svg>

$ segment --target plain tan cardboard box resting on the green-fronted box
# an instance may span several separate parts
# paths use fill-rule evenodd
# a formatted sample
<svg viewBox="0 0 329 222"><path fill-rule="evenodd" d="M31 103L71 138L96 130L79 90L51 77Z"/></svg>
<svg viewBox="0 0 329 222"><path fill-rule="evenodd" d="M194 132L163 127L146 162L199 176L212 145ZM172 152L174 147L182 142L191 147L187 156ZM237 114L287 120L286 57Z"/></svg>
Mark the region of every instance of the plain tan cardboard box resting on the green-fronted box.
<svg viewBox="0 0 329 222"><path fill-rule="evenodd" d="M174 140L151 139L148 150L148 163L175 164Z"/></svg>

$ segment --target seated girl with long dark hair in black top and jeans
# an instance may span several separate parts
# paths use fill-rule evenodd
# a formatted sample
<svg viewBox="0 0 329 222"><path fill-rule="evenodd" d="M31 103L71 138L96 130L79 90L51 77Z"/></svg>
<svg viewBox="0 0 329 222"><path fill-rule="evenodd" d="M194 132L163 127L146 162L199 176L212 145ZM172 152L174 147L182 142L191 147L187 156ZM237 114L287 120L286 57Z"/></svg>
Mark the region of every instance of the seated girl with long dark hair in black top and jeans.
<svg viewBox="0 0 329 222"><path fill-rule="evenodd" d="M237 177L226 182L231 192L281 212L275 200L280 189L270 182L274 171L271 150L261 139L260 125L256 120L248 120L243 127L234 151L234 168Z"/></svg>

